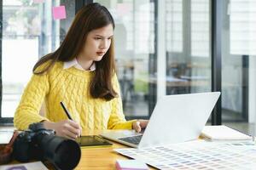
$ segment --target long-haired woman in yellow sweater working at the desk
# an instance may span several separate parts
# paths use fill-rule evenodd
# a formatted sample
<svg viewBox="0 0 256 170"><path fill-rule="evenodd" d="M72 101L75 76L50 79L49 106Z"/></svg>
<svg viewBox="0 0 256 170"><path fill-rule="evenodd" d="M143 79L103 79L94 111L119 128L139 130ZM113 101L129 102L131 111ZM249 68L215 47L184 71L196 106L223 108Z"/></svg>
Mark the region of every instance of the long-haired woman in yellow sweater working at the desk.
<svg viewBox="0 0 256 170"><path fill-rule="evenodd" d="M81 130L136 129L148 121L125 121L113 58L114 21L108 9L90 3L79 10L67 37L55 52L34 65L20 105L15 127L23 130L33 122L69 139ZM73 120L61 108L63 102ZM39 115L45 103L45 117Z"/></svg>

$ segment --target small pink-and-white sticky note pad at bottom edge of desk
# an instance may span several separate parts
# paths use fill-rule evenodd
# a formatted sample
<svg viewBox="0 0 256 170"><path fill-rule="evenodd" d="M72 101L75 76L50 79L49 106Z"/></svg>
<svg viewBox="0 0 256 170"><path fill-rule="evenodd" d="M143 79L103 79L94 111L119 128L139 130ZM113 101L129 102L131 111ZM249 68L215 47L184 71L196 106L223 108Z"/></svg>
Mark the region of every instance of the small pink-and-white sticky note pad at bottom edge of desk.
<svg viewBox="0 0 256 170"><path fill-rule="evenodd" d="M117 170L148 170L148 166L138 160L117 160L115 165Z"/></svg>

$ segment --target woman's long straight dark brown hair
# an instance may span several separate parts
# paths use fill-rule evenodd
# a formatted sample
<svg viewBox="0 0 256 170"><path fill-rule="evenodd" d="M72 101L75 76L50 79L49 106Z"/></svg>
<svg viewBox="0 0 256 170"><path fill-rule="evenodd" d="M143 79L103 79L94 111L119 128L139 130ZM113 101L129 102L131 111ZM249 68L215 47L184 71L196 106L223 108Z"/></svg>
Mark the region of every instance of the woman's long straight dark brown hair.
<svg viewBox="0 0 256 170"><path fill-rule="evenodd" d="M56 61L70 61L79 55L84 46L87 35L90 31L102 28L112 24L114 29L114 21L108 9L99 3L90 3L81 8L75 15L73 23L67 32L61 46L51 54L47 54L38 60L33 67L34 74L43 74L49 71ZM42 70L37 71L39 65L50 61ZM113 39L102 60L95 61L96 71L90 82L90 95L93 98L102 98L106 100L113 99L117 93L113 90L112 77L115 72L114 55L113 55Z"/></svg>

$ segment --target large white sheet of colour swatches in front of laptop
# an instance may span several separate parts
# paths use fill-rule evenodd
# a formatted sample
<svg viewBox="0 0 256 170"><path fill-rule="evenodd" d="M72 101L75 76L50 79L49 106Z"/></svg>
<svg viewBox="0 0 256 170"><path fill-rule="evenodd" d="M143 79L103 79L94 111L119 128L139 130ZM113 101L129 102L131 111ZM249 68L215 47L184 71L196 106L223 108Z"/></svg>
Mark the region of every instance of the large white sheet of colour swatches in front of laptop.
<svg viewBox="0 0 256 170"><path fill-rule="evenodd" d="M160 169L253 169L256 145L253 142L214 143L193 141L143 149L115 149Z"/></svg>

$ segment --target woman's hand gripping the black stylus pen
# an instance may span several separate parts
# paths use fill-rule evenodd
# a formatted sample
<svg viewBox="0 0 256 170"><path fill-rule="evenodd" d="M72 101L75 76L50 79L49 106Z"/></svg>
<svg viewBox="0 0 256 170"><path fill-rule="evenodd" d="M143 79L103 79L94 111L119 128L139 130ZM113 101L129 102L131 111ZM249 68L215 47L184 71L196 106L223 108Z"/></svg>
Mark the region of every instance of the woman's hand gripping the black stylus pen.
<svg viewBox="0 0 256 170"><path fill-rule="evenodd" d="M67 139L76 139L81 135L82 128L79 126L79 123L69 119L61 122L44 121L43 123L46 129L53 129L56 135Z"/></svg>

